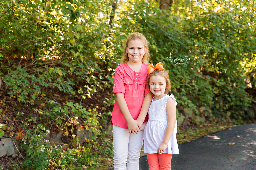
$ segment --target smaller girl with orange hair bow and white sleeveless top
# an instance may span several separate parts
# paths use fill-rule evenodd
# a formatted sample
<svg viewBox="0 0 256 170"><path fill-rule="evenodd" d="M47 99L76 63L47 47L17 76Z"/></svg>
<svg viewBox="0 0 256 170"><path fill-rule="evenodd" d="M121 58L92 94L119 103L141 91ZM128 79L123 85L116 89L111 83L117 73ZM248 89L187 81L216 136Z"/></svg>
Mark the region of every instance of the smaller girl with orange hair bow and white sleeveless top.
<svg viewBox="0 0 256 170"><path fill-rule="evenodd" d="M155 95L148 110L148 123L144 130L144 152L150 170L170 170L172 154L179 154L176 140L177 121L174 96L170 91L168 73L162 62L148 67L147 86Z"/></svg>

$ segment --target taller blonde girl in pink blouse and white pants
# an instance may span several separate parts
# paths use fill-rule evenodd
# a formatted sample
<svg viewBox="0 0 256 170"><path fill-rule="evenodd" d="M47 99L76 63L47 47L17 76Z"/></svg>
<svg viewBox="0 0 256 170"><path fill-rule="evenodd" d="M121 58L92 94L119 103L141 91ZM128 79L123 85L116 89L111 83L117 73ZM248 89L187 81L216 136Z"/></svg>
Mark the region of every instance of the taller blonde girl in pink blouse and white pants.
<svg viewBox="0 0 256 170"><path fill-rule="evenodd" d="M145 117L152 99L152 93L146 87L149 61L146 38L140 33L131 33L127 37L124 55L114 77L114 170L139 169L140 150L144 138L144 131L140 128L146 121Z"/></svg>

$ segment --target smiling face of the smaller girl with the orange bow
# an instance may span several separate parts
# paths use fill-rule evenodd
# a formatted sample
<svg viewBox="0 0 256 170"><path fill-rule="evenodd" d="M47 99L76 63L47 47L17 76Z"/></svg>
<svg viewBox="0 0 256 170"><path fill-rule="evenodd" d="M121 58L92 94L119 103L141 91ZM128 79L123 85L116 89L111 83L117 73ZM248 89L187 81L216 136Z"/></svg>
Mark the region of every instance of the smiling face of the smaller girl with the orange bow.
<svg viewBox="0 0 256 170"><path fill-rule="evenodd" d="M151 76L149 80L150 91L155 95L155 100L165 96L166 80L160 75Z"/></svg>

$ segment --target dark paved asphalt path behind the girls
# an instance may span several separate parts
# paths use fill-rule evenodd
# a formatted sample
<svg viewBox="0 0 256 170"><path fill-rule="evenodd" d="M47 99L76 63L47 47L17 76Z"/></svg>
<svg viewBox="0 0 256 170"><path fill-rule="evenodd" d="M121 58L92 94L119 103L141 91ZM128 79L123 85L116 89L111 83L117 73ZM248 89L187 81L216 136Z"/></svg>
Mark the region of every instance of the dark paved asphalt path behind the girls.
<svg viewBox="0 0 256 170"><path fill-rule="evenodd" d="M172 156L172 170L256 170L255 123L222 130L178 147L180 154ZM140 158L139 170L149 170L147 156Z"/></svg>

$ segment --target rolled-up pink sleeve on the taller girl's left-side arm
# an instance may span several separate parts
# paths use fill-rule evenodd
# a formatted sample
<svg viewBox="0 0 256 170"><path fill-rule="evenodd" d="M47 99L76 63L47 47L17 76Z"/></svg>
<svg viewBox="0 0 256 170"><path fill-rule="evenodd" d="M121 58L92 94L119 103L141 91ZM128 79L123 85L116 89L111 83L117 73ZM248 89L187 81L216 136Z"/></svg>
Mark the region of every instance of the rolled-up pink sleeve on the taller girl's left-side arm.
<svg viewBox="0 0 256 170"><path fill-rule="evenodd" d="M116 68L116 73L114 76L114 87L113 87L113 94L115 93L124 93L125 94L125 87L124 87L124 76L121 74L122 71L121 67Z"/></svg>

